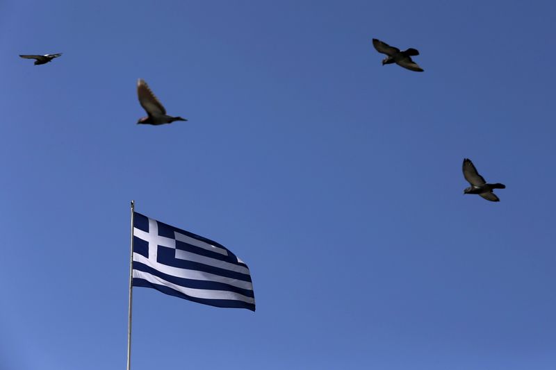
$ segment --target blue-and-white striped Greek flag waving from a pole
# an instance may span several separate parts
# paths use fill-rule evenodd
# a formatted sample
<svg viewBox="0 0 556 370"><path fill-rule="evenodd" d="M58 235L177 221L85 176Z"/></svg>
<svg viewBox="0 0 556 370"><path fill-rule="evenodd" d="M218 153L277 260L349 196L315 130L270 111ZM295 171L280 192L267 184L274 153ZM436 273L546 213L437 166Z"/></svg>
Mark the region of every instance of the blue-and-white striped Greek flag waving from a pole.
<svg viewBox="0 0 556 370"><path fill-rule="evenodd" d="M133 286L255 310L247 264L224 246L133 212Z"/></svg>

